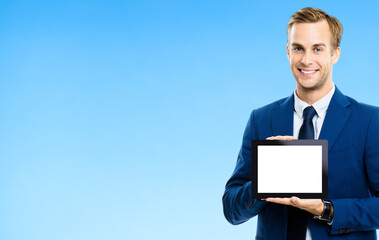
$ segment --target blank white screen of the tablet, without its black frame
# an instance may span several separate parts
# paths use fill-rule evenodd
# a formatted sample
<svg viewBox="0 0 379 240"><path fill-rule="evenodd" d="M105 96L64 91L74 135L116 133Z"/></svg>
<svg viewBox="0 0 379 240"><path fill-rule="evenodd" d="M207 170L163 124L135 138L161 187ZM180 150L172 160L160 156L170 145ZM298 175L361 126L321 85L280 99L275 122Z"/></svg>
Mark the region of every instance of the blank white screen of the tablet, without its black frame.
<svg viewBox="0 0 379 240"><path fill-rule="evenodd" d="M322 146L258 146L258 193L321 193Z"/></svg>

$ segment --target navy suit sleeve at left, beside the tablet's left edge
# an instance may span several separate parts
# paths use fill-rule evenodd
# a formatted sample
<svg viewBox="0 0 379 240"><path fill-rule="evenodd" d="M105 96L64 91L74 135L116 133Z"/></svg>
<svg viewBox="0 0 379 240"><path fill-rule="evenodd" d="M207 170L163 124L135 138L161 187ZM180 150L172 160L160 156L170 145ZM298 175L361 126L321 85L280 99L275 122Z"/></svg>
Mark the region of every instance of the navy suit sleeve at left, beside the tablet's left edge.
<svg viewBox="0 0 379 240"><path fill-rule="evenodd" d="M243 136L235 170L222 198L225 218L234 225L254 217L267 204L251 197L251 141L255 139L254 111Z"/></svg>

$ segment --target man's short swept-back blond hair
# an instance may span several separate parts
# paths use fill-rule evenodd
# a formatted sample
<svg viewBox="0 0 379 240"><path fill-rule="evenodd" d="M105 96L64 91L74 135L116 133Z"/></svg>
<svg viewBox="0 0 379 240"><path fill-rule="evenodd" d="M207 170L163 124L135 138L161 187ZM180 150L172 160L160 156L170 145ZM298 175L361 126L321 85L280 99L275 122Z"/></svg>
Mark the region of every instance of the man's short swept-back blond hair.
<svg viewBox="0 0 379 240"><path fill-rule="evenodd" d="M336 50L341 43L343 31L342 24L340 23L340 21L338 21L337 18L328 15L323 10L317 8L306 7L297 11L291 16L287 24L287 39L289 36L289 32L291 31L291 28L295 23L316 23L323 20L326 20L329 25L331 35L330 43L332 46L332 51Z"/></svg>

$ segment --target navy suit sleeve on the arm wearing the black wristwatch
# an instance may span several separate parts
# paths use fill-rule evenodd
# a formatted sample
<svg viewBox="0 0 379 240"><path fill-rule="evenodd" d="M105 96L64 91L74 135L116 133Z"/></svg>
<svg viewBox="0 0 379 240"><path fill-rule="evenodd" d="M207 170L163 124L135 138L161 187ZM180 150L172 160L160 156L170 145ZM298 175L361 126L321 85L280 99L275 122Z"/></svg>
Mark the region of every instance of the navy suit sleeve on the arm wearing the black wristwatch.
<svg viewBox="0 0 379 240"><path fill-rule="evenodd" d="M364 163L369 198L331 199L334 219L331 234L379 228L379 111L376 109L366 135ZM346 173L349 174L349 173Z"/></svg>

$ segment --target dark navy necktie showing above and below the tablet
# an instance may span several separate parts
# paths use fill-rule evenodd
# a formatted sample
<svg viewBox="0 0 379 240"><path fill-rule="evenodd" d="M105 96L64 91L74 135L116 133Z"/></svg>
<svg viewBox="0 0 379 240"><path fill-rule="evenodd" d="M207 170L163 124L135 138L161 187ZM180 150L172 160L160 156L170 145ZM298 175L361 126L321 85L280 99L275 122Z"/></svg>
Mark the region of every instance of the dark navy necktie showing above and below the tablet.
<svg viewBox="0 0 379 240"><path fill-rule="evenodd" d="M306 107L303 111L303 125L299 132L299 139L314 139L314 129L312 119L316 111L312 106ZM299 179L301 181L301 179ZM304 210L288 206L288 240L304 240L307 232L307 215Z"/></svg>

